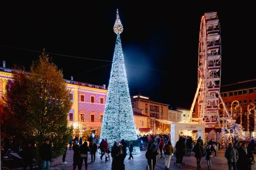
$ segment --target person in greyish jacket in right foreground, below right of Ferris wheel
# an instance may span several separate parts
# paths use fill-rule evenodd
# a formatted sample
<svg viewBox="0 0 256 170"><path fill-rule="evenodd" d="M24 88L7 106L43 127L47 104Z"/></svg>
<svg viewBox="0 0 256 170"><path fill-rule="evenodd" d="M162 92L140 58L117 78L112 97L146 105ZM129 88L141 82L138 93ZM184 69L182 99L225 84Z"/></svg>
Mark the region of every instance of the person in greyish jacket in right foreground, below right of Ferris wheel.
<svg viewBox="0 0 256 170"><path fill-rule="evenodd" d="M233 148L232 142L229 143L228 148L225 151L225 158L227 158L228 160L228 169L231 170L233 167L233 170L236 170L238 151L236 150L236 148Z"/></svg>

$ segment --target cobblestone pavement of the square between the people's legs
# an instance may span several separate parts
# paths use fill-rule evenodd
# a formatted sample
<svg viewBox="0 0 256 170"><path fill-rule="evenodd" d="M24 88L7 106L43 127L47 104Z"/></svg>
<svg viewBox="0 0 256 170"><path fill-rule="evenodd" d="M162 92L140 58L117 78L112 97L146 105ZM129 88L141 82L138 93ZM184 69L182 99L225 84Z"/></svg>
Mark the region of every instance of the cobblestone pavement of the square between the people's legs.
<svg viewBox="0 0 256 170"><path fill-rule="evenodd" d="M141 151L140 155L134 155L133 160L128 160L129 156L126 156L124 164L126 170L139 170L139 169L146 169L147 166L147 159L145 157L146 151ZM217 152L218 157L212 158L212 170L222 170L222 169L228 169L227 160L224 157L224 151L220 150ZM191 153L191 155L185 156L183 158L183 162L185 162L185 165L182 165L181 168L178 168L178 165L173 165L175 161L175 157L171 158L170 168L169 169L197 169L196 168L196 158L194 157L194 154ZM73 169L73 150L68 150L68 154L66 156L66 162L68 164L62 164L62 157L59 157L58 159L55 159L51 163L51 170L69 170ZM91 162L91 156L89 155L88 158L88 169L93 170L110 170L111 169L111 162L112 159L110 158L110 161L105 162L105 159L100 160L100 155L96 155L96 160L94 163ZM22 168L19 168L22 169ZM34 169L34 168L33 168ZM37 168L35 168L37 169ZM78 169L78 168L77 168ZM85 166L83 164L82 169L85 169ZM164 169L164 159L159 159L159 162L157 163L156 170ZM206 160L202 159L201 169L207 169L207 163ZM256 170L256 166L253 165L252 169Z"/></svg>

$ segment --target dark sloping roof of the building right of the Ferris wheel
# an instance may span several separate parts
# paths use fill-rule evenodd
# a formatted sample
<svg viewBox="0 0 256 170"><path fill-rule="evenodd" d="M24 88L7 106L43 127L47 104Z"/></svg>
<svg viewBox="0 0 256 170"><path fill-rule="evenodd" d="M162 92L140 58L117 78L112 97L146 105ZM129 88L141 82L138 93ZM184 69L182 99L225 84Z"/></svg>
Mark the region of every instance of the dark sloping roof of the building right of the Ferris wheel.
<svg viewBox="0 0 256 170"><path fill-rule="evenodd" d="M241 89L249 89L256 87L256 79L240 81L233 84L223 85L220 88L220 92L241 90Z"/></svg>

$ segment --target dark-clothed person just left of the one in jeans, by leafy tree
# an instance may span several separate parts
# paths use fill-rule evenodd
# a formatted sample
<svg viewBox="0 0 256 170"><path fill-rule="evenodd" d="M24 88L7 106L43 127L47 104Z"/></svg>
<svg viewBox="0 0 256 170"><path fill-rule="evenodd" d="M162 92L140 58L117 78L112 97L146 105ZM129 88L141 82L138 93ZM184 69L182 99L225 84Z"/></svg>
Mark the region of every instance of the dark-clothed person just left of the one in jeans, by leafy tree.
<svg viewBox="0 0 256 170"><path fill-rule="evenodd" d="M27 146L23 149L24 170L27 169L28 165L30 169L33 168L33 158L33 149L31 147L31 144L28 143Z"/></svg>

